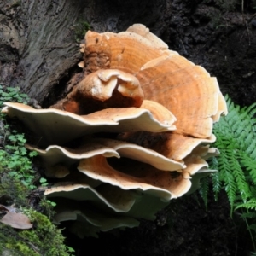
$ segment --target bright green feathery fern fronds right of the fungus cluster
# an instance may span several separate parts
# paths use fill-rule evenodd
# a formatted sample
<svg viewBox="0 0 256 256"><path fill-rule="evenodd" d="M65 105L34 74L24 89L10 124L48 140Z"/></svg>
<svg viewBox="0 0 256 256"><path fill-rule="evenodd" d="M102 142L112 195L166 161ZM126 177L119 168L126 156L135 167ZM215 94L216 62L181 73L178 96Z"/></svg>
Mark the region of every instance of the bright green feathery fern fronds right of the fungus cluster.
<svg viewBox="0 0 256 256"><path fill-rule="evenodd" d="M214 147L218 148L220 155L210 162L212 169L218 170L211 177L212 189L215 199L218 199L221 189L226 191L231 214L238 212L246 222L256 252L256 103L240 108L229 96L225 99L229 114L213 128L217 137ZM206 191L202 186L201 196L205 203Z"/></svg>

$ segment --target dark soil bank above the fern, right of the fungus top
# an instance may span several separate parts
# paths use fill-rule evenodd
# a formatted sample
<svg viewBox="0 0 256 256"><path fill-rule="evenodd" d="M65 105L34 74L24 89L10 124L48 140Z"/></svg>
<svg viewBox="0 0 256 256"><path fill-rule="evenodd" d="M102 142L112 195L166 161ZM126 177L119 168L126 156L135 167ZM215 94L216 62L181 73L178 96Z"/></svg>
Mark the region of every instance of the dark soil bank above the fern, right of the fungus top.
<svg viewBox="0 0 256 256"><path fill-rule="evenodd" d="M196 3L195 3L196 2ZM172 1L163 35L177 50L218 78L223 94L244 106L255 102L255 1Z"/></svg>

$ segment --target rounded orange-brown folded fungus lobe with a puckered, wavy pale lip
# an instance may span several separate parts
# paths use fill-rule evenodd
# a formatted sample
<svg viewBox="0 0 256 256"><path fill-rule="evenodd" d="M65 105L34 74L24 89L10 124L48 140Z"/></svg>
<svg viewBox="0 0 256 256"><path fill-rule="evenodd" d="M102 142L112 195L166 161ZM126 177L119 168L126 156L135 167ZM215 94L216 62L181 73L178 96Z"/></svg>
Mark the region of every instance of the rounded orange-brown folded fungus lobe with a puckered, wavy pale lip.
<svg viewBox="0 0 256 256"><path fill-rule="evenodd" d="M81 115L105 108L139 108L143 99L143 90L135 76L118 69L101 69L87 75L51 108Z"/></svg>

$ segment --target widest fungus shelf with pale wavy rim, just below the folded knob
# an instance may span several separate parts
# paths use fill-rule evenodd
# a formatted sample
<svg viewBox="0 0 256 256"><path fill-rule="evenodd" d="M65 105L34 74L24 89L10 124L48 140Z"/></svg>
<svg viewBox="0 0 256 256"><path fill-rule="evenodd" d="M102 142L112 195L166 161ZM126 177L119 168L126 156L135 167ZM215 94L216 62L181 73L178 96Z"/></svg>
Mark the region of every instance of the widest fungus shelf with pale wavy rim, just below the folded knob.
<svg viewBox="0 0 256 256"><path fill-rule="evenodd" d="M161 117L161 110L154 116L164 122L155 119L153 114L145 109L145 106L144 108L107 108L96 113L79 116L54 108L34 109L21 103L4 102L4 105L6 107L3 108L2 113L20 119L46 144L63 144L100 131L160 132L175 129L172 121L167 122L165 116Z"/></svg>

